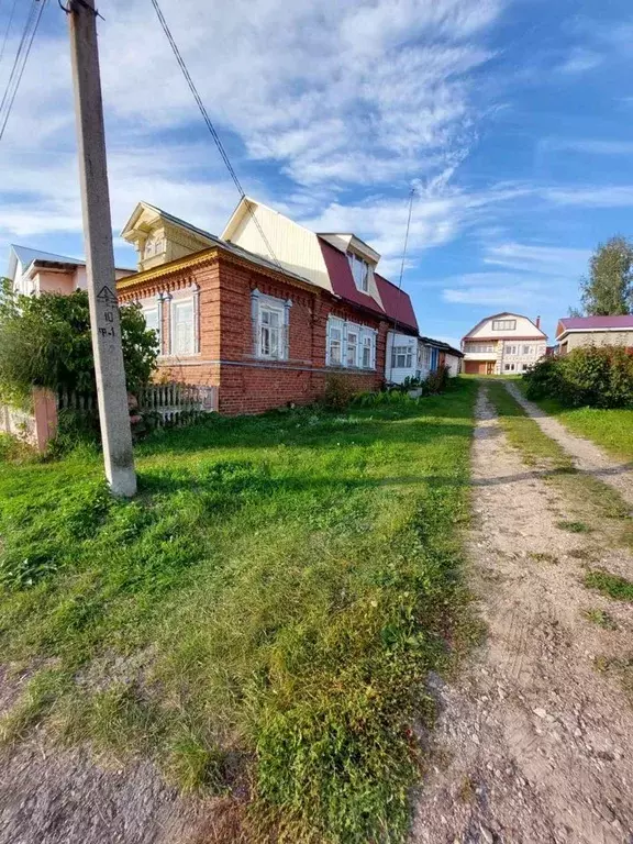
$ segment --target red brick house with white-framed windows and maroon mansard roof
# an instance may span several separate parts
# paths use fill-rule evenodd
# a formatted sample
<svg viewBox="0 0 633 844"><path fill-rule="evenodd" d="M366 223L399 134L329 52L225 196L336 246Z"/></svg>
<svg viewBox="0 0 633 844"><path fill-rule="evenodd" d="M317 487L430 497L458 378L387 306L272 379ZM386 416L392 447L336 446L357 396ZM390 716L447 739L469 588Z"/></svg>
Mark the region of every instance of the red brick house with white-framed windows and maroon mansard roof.
<svg viewBox="0 0 633 844"><path fill-rule="evenodd" d="M146 202L122 236L138 273L118 281L158 333L159 375L215 386L222 413L309 403L330 374L385 378L387 334L418 336L409 296L353 234L318 235L244 199L215 237Z"/></svg>

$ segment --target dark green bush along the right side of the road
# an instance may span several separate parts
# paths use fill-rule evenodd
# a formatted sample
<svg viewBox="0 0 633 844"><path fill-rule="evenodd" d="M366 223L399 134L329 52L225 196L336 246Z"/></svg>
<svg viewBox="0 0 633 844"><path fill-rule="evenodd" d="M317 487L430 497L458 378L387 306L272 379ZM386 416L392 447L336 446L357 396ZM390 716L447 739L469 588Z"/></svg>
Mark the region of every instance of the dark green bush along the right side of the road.
<svg viewBox="0 0 633 844"><path fill-rule="evenodd" d="M582 346L537 363L524 379L530 399L570 408L633 407L633 355L623 346Z"/></svg>

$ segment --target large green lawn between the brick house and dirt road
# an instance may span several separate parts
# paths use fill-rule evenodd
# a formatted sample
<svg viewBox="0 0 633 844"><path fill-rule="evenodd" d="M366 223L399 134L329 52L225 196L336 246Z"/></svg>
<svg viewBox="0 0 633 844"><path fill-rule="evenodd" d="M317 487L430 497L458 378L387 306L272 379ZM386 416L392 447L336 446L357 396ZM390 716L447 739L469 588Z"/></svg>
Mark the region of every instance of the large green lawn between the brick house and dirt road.
<svg viewBox="0 0 633 844"><path fill-rule="evenodd" d="M0 647L33 673L4 741L45 721L185 789L251 782L249 841L403 841L424 678L475 635L476 389L156 434L134 501L89 449L0 464Z"/></svg>

